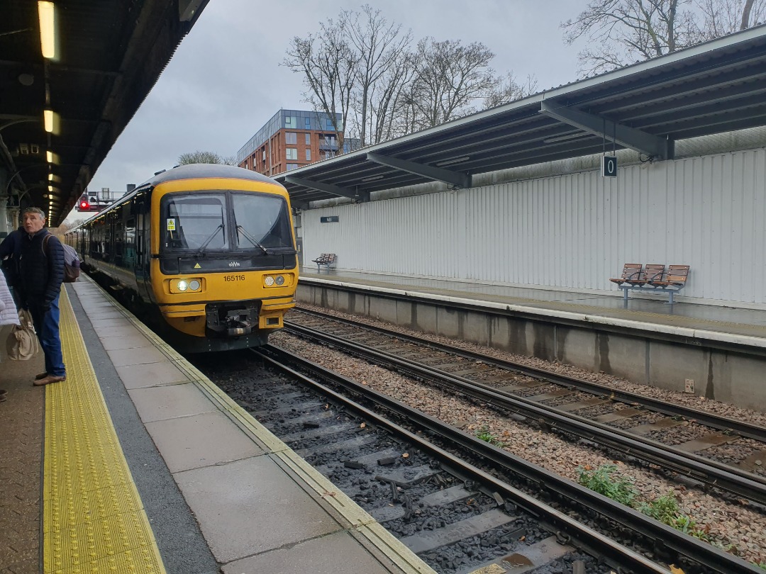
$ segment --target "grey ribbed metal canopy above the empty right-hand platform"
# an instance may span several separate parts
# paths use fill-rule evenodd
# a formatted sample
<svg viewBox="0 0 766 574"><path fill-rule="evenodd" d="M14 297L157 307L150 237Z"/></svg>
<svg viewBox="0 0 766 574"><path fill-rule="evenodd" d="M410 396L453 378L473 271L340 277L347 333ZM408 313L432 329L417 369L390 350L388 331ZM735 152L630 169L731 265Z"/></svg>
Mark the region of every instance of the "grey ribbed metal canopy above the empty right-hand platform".
<svg viewBox="0 0 766 574"><path fill-rule="evenodd" d="M293 204L766 126L766 25L277 175Z"/></svg>

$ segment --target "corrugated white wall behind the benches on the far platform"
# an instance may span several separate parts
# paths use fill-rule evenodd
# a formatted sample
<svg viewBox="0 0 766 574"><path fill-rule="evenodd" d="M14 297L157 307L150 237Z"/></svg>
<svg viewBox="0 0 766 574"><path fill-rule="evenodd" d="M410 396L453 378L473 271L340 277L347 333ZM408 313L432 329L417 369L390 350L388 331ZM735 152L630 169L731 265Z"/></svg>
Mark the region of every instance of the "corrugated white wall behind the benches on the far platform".
<svg viewBox="0 0 766 574"><path fill-rule="evenodd" d="M320 223L326 215L339 223ZM766 303L763 148L307 210L304 261L573 290L622 264L688 264L686 297Z"/></svg>

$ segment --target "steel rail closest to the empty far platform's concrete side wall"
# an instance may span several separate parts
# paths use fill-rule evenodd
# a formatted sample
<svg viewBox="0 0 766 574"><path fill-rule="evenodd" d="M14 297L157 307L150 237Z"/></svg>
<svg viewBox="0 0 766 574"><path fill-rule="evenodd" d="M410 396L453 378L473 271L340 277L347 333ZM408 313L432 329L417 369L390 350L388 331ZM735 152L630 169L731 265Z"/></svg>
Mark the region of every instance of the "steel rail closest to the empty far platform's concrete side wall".
<svg viewBox="0 0 766 574"><path fill-rule="evenodd" d="M680 416L684 419L693 419L697 422L701 422L705 426L710 426L714 429L735 432L736 434L748 439L755 439L760 442L766 442L766 428L748 422L728 419L725 416L706 413L705 411L692 409L688 406L666 403L662 400L653 399L650 396L643 396L637 393L630 393L629 391L625 390L614 389L611 386L591 383L591 381L588 380L578 379L577 377L568 377L566 375L553 373L552 371L545 369L529 367L514 361L497 359L495 357L489 357L489 355L474 353L473 351L466 351L456 347L450 347L449 345L430 341L415 335L403 334L399 333L398 331L390 331L385 328L375 327L374 325L367 325L366 323L362 323L361 321L354 321L353 319L339 318L333 315L324 315L319 311L313 311L311 309L298 309L298 311L305 313L306 315L326 318L330 321L337 321L339 323L353 325L367 331L374 331L376 333L385 334L388 335L388 337L398 338L409 343L424 345L425 347L430 347L437 351L457 355L458 357L463 357L470 360L480 360L484 364L493 365L494 367L499 367L501 369L510 370L517 373L522 373L528 377L550 380L553 383L560 385L575 387L577 390L584 391L585 393L591 393L594 395L606 395L613 400L630 403L631 405L647 406L648 408L656 411L657 413L662 413L663 415ZM285 325L293 325L293 321L285 321Z"/></svg>

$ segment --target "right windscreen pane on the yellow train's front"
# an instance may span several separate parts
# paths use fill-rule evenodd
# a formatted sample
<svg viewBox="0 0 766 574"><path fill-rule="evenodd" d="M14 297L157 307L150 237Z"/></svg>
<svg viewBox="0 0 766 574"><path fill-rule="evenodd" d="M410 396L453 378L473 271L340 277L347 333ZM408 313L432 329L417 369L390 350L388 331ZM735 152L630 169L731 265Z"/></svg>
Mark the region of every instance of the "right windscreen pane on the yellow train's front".
<svg viewBox="0 0 766 574"><path fill-rule="evenodd" d="M231 199L240 249L260 249L253 240L264 247L292 249L290 214L282 197L234 193Z"/></svg>

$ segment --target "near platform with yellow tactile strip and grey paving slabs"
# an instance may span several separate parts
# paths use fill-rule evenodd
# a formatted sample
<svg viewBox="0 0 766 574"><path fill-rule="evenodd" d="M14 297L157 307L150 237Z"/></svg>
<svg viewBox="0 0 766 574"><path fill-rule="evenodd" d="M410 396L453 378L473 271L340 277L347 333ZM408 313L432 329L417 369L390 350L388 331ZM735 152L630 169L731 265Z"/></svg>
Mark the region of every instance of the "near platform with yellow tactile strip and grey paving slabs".
<svg viewBox="0 0 766 574"><path fill-rule="evenodd" d="M2 351L0 572L434 572L87 276L61 336Z"/></svg>

